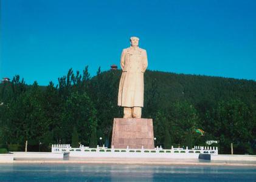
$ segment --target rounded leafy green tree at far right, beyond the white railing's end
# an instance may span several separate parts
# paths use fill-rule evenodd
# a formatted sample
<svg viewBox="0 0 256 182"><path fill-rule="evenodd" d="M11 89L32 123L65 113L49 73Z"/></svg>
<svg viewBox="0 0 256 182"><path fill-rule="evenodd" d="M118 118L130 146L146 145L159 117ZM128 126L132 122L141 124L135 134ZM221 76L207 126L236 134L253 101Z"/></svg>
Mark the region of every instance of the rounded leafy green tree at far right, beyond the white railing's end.
<svg viewBox="0 0 256 182"><path fill-rule="evenodd" d="M220 141L221 153L230 153L230 143L234 143L235 153L252 153L252 118L249 107L239 99L218 104L210 116L209 124Z"/></svg>

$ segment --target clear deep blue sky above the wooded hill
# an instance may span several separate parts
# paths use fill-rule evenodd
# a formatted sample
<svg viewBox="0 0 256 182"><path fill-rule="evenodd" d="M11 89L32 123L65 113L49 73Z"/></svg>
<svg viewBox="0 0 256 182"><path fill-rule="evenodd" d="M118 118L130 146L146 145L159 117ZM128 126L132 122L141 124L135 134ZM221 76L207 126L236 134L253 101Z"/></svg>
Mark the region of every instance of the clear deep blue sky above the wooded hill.
<svg viewBox="0 0 256 182"><path fill-rule="evenodd" d="M148 69L256 80L254 0L2 0L0 77L57 83L119 66L130 36Z"/></svg>

